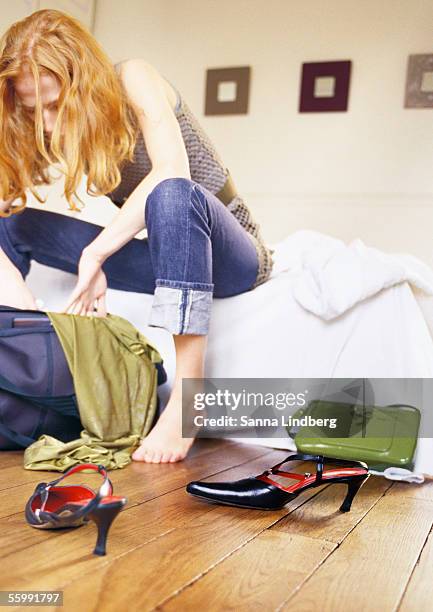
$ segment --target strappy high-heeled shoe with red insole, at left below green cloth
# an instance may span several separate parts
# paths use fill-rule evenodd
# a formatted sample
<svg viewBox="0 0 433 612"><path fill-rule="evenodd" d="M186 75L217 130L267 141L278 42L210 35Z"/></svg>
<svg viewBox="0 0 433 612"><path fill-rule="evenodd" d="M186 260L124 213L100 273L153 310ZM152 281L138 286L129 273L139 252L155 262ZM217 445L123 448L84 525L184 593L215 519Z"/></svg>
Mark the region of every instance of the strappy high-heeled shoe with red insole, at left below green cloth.
<svg viewBox="0 0 433 612"><path fill-rule="evenodd" d="M104 477L97 493L86 485L56 486L67 476L82 470L96 470ZM104 466L82 463L67 470L57 480L40 482L26 504L25 517L36 529L80 527L92 520L98 528L93 554L105 555L110 526L127 502L126 497L113 496L112 493L113 485Z"/></svg>

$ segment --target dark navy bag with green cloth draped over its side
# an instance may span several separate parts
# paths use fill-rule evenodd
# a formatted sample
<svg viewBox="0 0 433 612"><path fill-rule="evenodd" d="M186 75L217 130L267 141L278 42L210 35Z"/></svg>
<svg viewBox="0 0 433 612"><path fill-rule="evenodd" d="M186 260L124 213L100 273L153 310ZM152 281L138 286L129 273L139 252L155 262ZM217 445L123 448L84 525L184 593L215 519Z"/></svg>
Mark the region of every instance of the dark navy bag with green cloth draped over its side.
<svg viewBox="0 0 433 612"><path fill-rule="evenodd" d="M74 384L45 313L0 306L0 450L80 437Z"/></svg>

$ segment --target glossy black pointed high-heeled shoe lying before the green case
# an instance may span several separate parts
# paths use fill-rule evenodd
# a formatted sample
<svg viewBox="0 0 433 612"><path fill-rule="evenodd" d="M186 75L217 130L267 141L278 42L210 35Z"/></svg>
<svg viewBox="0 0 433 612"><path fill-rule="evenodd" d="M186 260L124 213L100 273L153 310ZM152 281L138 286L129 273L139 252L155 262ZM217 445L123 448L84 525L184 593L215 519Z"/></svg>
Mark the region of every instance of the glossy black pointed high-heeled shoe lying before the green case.
<svg viewBox="0 0 433 612"><path fill-rule="evenodd" d="M279 469L284 463L299 460L315 461L317 464L316 473L296 474ZM325 462L341 467L324 471ZM281 476L295 482L285 487L273 479L272 476ZM238 506L239 508L254 508L256 510L278 510L307 489L339 482L347 484L347 495L340 510L341 512L349 512L353 498L369 476L368 466L362 461L345 461L343 459L325 458L321 455L296 453L277 463L269 470L265 470L259 476L251 476L231 482L190 482L186 490L191 495L219 504Z"/></svg>

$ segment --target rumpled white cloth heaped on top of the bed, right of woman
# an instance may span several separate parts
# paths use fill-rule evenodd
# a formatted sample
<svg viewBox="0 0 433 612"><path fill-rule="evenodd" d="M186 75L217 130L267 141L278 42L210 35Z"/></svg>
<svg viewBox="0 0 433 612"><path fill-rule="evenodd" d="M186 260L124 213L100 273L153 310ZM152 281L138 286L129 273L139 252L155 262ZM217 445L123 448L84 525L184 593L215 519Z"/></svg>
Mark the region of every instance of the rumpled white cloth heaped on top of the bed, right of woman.
<svg viewBox="0 0 433 612"><path fill-rule="evenodd" d="M433 295L433 270L407 253L383 253L359 238L342 240L313 231L299 231L279 245L280 271L295 274L293 295L309 312L335 319L381 289L409 282Z"/></svg>

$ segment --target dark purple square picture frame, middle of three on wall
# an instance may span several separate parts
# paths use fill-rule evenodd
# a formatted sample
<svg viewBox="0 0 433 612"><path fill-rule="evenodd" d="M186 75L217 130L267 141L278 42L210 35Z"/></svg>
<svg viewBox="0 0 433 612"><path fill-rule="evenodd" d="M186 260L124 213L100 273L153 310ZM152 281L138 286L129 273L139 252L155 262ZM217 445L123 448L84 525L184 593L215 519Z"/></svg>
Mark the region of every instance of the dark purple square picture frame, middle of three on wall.
<svg viewBox="0 0 433 612"><path fill-rule="evenodd" d="M300 113L347 111L352 62L302 64Z"/></svg>

